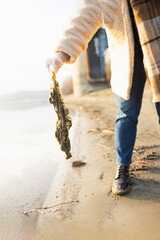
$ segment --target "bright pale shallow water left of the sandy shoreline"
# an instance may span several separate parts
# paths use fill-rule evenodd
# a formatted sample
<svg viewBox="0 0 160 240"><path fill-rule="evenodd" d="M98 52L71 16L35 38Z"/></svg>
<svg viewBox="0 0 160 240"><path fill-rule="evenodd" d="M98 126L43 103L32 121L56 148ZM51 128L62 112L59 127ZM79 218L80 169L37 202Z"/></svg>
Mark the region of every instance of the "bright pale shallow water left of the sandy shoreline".
<svg viewBox="0 0 160 240"><path fill-rule="evenodd" d="M0 239L30 240L38 214L64 154L55 140L51 105L8 104L0 110ZM14 107L14 108L13 108Z"/></svg>

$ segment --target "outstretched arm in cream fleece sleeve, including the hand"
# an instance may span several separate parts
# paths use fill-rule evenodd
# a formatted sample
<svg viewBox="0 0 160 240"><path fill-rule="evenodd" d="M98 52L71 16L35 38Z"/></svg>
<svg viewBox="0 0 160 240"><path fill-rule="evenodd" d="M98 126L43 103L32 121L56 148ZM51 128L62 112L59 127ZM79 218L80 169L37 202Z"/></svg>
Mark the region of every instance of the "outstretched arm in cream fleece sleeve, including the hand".
<svg viewBox="0 0 160 240"><path fill-rule="evenodd" d="M83 5L64 31L59 41L55 56L47 62L49 71L57 72L63 63L74 63L78 56L87 49L89 41L104 21L114 21L121 7L117 0L83 0ZM107 14L103 16L104 9Z"/></svg>

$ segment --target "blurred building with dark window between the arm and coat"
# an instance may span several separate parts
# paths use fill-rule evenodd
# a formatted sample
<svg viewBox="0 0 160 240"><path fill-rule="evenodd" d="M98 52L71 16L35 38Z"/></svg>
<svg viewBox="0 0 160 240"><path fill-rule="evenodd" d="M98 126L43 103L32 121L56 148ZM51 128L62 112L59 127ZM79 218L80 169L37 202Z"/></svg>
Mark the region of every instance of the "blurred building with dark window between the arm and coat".
<svg viewBox="0 0 160 240"><path fill-rule="evenodd" d="M98 29L74 65L73 90L76 96L109 86L106 72L105 51L108 41L104 26Z"/></svg>

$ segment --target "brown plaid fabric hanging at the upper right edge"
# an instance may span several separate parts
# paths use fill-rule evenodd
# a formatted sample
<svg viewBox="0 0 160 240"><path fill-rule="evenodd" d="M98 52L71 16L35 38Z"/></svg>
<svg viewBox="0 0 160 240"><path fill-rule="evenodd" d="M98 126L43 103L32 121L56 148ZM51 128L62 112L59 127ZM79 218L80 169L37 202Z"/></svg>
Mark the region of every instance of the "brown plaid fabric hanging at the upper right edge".
<svg viewBox="0 0 160 240"><path fill-rule="evenodd" d="M153 102L160 102L160 1L130 0Z"/></svg>

